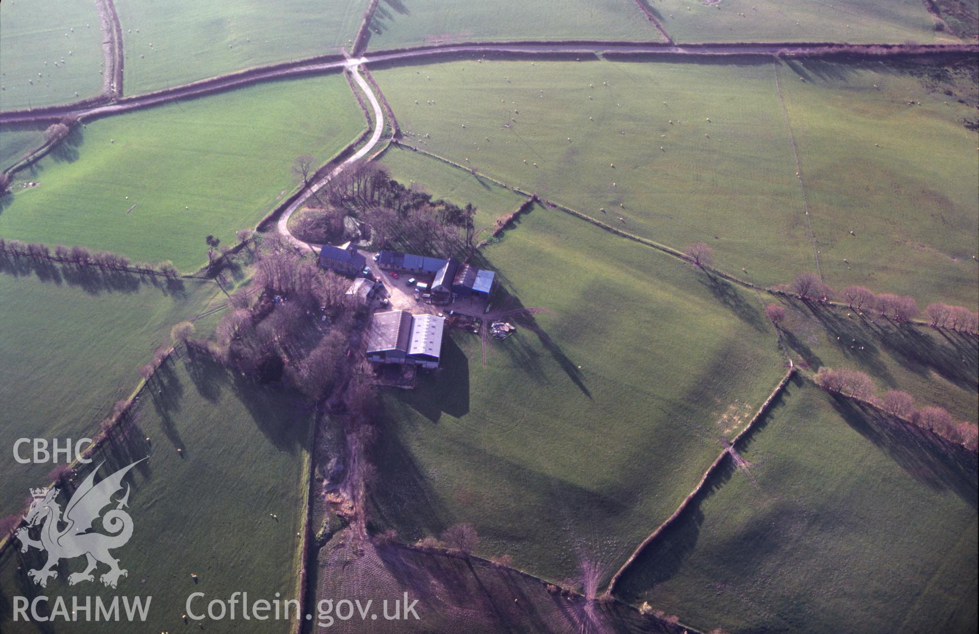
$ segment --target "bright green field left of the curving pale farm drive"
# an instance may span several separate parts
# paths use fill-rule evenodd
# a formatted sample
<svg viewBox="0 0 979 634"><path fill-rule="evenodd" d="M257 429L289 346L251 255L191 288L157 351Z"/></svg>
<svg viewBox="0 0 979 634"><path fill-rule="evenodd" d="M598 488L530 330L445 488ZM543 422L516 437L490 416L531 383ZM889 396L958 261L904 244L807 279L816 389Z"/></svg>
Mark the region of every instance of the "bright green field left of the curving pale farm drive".
<svg viewBox="0 0 979 634"><path fill-rule="evenodd" d="M206 236L234 245L237 230L299 185L290 170L296 157L326 162L363 126L339 74L76 126L49 157L15 175L40 185L5 200L0 235L196 270L208 261Z"/></svg>

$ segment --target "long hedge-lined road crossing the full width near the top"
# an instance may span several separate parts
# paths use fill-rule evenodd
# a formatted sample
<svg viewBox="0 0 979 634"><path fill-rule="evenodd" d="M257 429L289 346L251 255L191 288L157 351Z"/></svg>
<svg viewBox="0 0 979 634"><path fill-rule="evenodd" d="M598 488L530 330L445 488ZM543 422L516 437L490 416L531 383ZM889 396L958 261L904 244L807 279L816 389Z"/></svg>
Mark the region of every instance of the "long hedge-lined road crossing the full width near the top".
<svg viewBox="0 0 979 634"><path fill-rule="evenodd" d="M828 43L735 43L735 44L684 44L672 45L664 42L493 42L480 44L458 44L424 46L403 50L378 51L359 58L359 64L397 64L433 63L453 55L493 55L503 54L518 59L536 59L553 55L594 56L597 52L620 56L646 56L664 59L670 57L708 56L713 58L743 55L790 54L796 57L825 56L835 54L860 55L862 51L884 49L886 52L874 55L875 59L902 57L908 55L961 55L979 52L979 45L882 45L856 44L846 47ZM142 108L160 106L181 99L202 97L216 92L250 86L261 81L284 79L303 75L335 72L350 66L342 56L331 55L308 58L295 62L250 68L237 72L211 77L182 86L159 90L145 95L118 99L116 103L78 108L77 105L38 108L30 111L8 111L0 113L0 125L48 123L57 121L65 115L93 119L100 116L125 113ZM119 67L121 68L121 67Z"/></svg>

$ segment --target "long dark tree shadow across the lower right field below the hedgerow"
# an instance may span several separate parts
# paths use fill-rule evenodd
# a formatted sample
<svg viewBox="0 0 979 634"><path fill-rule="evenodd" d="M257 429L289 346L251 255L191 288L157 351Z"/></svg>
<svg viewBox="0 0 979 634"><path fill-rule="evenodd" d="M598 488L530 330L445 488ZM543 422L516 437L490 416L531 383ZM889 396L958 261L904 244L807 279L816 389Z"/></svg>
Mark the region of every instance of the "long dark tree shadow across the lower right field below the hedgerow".
<svg viewBox="0 0 979 634"><path fill-rule="evenodd" d="M909 475L934 491L951 491L979 508L977 455L931 431L836 395L833 407L847 424L883 449Z"/></svg>

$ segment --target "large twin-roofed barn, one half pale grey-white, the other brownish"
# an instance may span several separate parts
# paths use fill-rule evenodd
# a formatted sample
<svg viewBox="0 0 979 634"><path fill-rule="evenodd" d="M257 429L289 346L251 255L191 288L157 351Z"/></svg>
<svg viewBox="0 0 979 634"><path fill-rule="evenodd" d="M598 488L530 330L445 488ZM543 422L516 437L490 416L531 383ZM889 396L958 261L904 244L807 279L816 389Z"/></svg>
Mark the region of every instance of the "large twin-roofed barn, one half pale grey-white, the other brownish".
<svg viewBox="0 0 979 634"><path fill-rule="evenodd" d="M374 313L367 336L367 360L375 363L439 367L445 320L406 310Z"/></svg>

